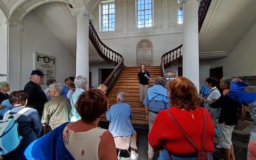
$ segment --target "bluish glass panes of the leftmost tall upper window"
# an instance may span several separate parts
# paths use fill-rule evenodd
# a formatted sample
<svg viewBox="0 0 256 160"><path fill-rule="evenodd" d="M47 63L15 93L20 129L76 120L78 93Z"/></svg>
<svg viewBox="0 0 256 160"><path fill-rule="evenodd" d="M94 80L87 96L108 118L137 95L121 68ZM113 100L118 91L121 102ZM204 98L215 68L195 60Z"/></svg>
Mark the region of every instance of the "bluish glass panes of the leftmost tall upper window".
<svg viewBox="0 0 256 160"><path fill-rule="evenodd" d="M115 31L115 3L102 3L102 31Z"/></svg>

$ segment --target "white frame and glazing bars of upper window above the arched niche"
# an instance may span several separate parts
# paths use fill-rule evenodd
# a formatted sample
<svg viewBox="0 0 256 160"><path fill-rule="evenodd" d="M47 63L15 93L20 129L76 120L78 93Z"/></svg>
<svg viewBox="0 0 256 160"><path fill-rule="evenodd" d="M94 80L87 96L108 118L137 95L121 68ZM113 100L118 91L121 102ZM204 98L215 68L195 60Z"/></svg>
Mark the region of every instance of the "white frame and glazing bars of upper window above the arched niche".
<svg viewBox="0 0 256 160"><path fill-rule="evenodd" d="M152 28L154 26L154 0L149 0L149 1L151 1L151 8L150 8L150 10L151 10L151 26L146 27L146 24L144 22L143 27L141 27L141 28L139 28L138 1L140 1L140 0L135 0L135 5L136 5L136 14L135 14L136 15L136 28L138 28L138 29ZM145 6L145 0L143 0L143 1L144 1L144 6ZM148 9L145 9L145 7L144 7L143 10L140 10L140 11L144 12L144 16L143 16L144 21L146 20L145 19L145 11L146 10L148 10Z"/></svg>

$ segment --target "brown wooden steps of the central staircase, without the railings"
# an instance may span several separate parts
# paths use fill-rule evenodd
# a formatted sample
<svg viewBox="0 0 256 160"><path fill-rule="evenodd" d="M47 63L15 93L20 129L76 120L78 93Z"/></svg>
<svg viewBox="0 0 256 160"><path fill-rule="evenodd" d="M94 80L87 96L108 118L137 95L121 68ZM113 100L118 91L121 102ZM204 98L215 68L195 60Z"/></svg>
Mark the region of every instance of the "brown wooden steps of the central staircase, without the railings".
<svg viewBox="0 0 256 160"><path fill-rule="evenodd" d="M154 78L161 76L160 67L147 67L152 81L149 86L153 86ZM108 95L109 105L116 103L116 94L118 92L124 92L126 95L125 102L132 108L132 124L148 124L145 120L145 108L140 106L139 101L139 81L137 80L140 67L124 67L124 70L118 77L115 85ZM106 121L105 116L102 120Z"/></svg>

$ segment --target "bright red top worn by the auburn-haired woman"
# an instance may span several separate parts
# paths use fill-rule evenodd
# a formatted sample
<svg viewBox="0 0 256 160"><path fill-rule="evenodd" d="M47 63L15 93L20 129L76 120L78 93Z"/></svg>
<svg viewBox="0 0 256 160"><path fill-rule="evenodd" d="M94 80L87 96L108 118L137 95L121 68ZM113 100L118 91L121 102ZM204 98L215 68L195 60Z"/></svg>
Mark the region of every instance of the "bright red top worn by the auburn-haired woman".
<svg viewBox="0 0 256 160"><path fill-rule="evenodd" d="M198 108L195 111L185 111L176 107L169 108L168 111L195 141L199 148L202 148L203 137L203 109L206 117L206 138L205 152L214 151L214 125L210 113L205 108ZM194 119L193 119L194 117ZM161 111L148 134L148 141L155 150L166 148L173 154L193 154L196 149L186 140L184 134L173 124L166 110Z"/></svg>

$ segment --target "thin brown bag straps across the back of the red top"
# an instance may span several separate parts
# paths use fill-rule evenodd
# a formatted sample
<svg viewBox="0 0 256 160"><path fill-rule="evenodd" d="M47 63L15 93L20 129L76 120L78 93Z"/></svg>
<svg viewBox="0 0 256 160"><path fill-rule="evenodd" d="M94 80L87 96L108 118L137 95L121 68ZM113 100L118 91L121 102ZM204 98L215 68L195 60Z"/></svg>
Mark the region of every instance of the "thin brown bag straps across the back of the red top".
<svg viewBox="0 0 256 160"><path fill-rule="evenodd" d="M172 114L166 110L166 113L168 114L168 116L170 117L170 119L172 120L172 122L179 128L179 130L184 134L185 138L189 141L189 143L191 145L193 145L193 147L196 148L197 152L198 152L198 160L208 160L208 159L212 159L211 155L209 155L209 153L205 152L205 138L206 138L206 117L205 117L205 111L204 109L202 109L203 111L203 115L204 115L204 131L203 131L203 141L202 141L202 148L198 148L198 146L196 145L195 141L193 141L188 133L181 127L181 125L177 122L177 120L175 120L175 118L172 116Z"/></svg>

